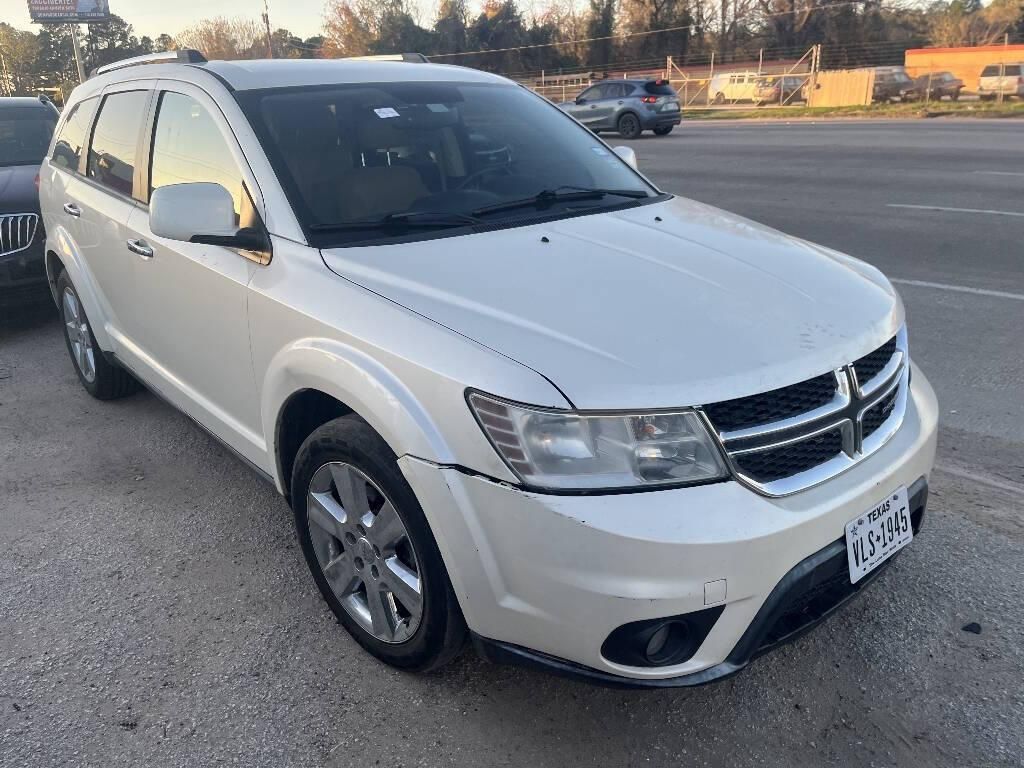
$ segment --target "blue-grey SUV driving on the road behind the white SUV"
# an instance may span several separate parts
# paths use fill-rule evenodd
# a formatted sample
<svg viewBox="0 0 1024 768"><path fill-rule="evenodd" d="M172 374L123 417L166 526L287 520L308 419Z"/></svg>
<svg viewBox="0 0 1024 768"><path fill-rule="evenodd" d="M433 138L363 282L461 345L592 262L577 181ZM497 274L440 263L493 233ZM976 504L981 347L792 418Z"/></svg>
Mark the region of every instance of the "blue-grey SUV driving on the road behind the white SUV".
<svg viewBox="0 0 1024 768"><path fill-rule="evenodd" d="M644 131L665 136L683 119L679 94L668 80L605 80L558 108L595 133L616 131L623 138Z"/></svg>

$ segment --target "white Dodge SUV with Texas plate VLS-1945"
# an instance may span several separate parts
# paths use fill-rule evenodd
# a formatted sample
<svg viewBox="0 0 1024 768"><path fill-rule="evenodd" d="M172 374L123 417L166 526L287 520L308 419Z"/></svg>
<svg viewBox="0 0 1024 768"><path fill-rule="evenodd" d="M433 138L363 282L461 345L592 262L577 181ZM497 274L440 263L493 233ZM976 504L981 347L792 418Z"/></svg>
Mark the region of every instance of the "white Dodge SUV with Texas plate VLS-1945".
<svg viewBox="0 0 1024 768"><path fill-rule="evenodd" d="M75 90L41 170L78 376L272 481L379 658L707 682L911 540L936 403L877 269L494 75L140 63Z"/></svg>

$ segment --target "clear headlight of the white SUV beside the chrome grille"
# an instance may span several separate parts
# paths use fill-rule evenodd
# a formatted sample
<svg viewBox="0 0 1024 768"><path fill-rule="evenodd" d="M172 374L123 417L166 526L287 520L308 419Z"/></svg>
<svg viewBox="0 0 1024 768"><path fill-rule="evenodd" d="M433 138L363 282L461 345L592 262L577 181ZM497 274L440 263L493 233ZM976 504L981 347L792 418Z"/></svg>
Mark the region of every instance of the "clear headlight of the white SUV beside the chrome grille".
<svg viewBox="0 0 1024 768"><path fill-rule="evenodd" d="M520 406L478 392L468 399L495 450L532 487L653 487L728 474L693 411L590 415Z"/></svg>

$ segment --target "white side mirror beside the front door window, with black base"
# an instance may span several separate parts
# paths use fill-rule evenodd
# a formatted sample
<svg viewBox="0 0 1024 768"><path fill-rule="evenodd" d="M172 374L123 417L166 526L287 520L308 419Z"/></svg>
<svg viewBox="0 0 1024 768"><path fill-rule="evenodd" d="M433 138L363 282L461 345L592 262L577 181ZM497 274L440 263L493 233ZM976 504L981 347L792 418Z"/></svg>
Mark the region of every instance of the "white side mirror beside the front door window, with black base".
<svg viewBox="0 0 1024 768"><path fill-rule="evenodd" d="M207 181L155 189L150 198L150 229L159 238L185 243L250 251L265 248L259 232L239 229L231 194Z"/></svg>

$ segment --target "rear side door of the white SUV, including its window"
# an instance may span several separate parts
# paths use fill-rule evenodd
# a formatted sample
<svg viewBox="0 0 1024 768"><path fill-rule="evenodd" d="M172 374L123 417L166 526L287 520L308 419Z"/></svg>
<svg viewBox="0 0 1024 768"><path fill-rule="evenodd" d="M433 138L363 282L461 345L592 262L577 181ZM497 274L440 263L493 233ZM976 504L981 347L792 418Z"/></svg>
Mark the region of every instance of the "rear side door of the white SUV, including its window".
<svg viewBox="0 0 1024 768"><path fill-rule="evenodd" d="M135 296L130 254L125 250L125 224L138 201L139 138L151 85L121 83L103 91L80 166L82 172L66 177L57 213L68 222L103 314L92 322L102 324L114 342L112 351L118 353L134 333L128 321ZM84 113L82 117L86 117ZM55 162L58 153L66 152L58 139Z"/></svg>

